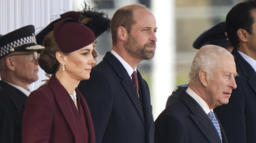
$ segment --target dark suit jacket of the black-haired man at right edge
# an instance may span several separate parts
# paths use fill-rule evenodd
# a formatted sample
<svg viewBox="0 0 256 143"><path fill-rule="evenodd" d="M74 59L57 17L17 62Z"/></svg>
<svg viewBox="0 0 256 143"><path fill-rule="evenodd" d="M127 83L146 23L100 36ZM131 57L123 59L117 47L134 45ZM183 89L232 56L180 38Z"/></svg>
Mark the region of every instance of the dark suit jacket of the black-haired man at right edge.
<svg viewBox="0 0 256 143"><path fill-rule="evenodd" d="M237 89L233 89L229 103L216 107L229 142L256 142L256 72L238 53L234 55L237 72Z"/></svg>

